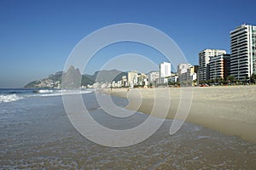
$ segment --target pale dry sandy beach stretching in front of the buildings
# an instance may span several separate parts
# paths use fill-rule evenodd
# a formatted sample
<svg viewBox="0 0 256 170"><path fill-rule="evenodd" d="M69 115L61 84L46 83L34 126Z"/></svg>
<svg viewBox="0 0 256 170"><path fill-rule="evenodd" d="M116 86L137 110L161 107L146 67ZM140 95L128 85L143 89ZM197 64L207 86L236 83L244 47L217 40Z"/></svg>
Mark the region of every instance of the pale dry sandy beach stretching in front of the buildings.
<svg viewBox="0 0 256 170"><path fill-rule="evenodd" d="M154 94L160 99L161 111L170 102L167 118L173 119L184 88L113 89L110 94L128 98L130 110L150 114L154 107ZM169 92L170 95L166 94ZM193 122L230 136L256 142L256 86L192 88L192 105L186 122ZM141 100L142 99L142 102Z"/></svg>

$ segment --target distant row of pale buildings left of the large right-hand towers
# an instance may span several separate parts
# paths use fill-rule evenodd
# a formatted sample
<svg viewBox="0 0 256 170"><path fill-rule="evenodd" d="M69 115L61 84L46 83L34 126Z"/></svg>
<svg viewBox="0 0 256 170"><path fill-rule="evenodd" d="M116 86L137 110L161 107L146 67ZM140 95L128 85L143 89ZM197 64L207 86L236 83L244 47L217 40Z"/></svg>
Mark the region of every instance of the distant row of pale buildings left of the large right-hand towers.
<svg viewBox="0 0 256 170"><path fill-rule="evenodd" d="M177 73L171 71L171 65L168 62L160 63L159 71L150 71L147 75L138 71L128 71L127 75L122 76L117 82L96 82L89 88L148 88L166 86L170 82L179 82L183 86L192 85L190 82L196 79L197 65L180 64L177 67Z"/></svg>

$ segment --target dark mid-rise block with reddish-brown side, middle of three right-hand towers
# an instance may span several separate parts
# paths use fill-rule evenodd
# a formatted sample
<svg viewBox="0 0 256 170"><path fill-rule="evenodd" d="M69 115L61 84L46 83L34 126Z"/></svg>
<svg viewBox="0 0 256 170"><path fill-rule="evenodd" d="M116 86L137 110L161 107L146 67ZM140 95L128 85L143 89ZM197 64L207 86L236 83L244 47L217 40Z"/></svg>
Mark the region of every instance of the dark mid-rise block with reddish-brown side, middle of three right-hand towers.
<svg viewBox="0 0 256 170"><path fill-rule="evenodd" d="M230 75L230 54L211 57L209 61L210 79L226 79Z"/></svg>

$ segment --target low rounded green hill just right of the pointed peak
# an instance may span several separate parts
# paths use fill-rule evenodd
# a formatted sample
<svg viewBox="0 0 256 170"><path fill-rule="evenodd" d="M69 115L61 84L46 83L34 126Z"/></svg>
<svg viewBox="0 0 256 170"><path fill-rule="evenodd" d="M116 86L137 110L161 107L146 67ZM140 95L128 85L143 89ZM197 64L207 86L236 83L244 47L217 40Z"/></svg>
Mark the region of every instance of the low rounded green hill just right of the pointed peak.
<svg viewBox="0 0 256 170"><path fill-rule="evenodd" d="M127 77L127 72L118 71L118 70L110 70L110 71L96 71L94 75L84 75L89 77L91 80L95 82L118 82L122 79L123 76Z"/></svg>

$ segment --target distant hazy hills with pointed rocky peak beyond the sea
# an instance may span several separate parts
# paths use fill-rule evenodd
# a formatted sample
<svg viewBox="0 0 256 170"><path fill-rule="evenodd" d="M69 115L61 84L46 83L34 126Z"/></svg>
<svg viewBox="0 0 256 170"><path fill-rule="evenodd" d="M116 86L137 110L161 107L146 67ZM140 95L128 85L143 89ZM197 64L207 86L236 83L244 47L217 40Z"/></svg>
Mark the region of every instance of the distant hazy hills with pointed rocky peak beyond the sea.
<svg viewBox="0 0 256 170"><path fill-rule="evenodd" d="M28 82L24 88L61 88L61 83L64 85L63 88L79 88L94 82L118 82L123 76L127 77L127 73L118 70L96 71L94 75L81 75L79 69L71 65L66 73L58 71L47 78ZM65 82L62 82L62 77L65 77Z"/></svg>

